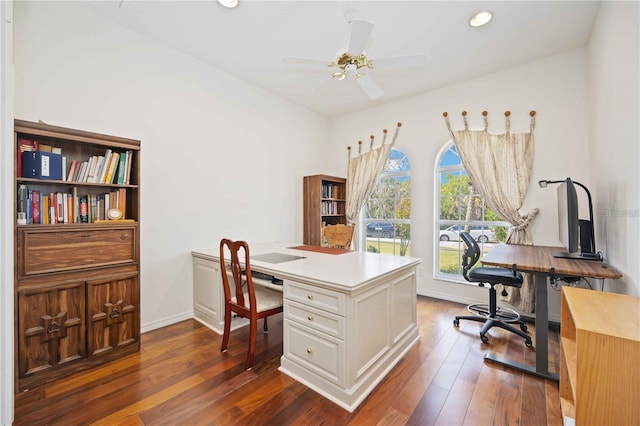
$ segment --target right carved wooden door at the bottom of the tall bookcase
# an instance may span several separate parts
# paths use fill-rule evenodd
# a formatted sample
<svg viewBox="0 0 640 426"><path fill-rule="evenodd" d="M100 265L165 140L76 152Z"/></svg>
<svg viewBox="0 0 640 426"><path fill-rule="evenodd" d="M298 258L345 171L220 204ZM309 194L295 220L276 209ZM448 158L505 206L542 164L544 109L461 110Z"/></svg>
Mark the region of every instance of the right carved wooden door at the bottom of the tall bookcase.
<svg viewBox="0 0 640 426"><path fill-rule="evenodd" d="M87 282L89 357L140 342L138 274Z"/></svg>

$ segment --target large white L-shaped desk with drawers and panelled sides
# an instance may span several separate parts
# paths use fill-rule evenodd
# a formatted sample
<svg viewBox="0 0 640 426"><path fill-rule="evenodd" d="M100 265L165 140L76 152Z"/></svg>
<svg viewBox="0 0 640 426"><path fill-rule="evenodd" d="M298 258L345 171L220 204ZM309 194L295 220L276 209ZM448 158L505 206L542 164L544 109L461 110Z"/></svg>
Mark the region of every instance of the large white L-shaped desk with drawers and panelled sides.
<svg viewBox="0 0 640 426"><path fill-rule="evenodd" d="M252 270L283 280L280 371L353 411L420 338L416 267L421 259L367 252L332 255L292 246L250 245ZM282 263L253 259L268 253L304 258ZM194 317L221 333L219 249L192 254Z"/></svg>

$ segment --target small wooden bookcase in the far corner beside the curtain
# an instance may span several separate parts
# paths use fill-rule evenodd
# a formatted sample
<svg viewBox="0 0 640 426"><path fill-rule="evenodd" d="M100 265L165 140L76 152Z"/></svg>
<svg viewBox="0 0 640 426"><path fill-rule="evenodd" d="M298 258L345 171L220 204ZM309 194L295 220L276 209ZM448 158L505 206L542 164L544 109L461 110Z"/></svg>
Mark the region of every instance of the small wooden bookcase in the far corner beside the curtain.
<svg viewBox="0 0 640 426"><path fill-rule="evenodd" d="M322 223L347 223L346 179L327 175L305 176L303 181L303 243L321 246Z"/></svg>

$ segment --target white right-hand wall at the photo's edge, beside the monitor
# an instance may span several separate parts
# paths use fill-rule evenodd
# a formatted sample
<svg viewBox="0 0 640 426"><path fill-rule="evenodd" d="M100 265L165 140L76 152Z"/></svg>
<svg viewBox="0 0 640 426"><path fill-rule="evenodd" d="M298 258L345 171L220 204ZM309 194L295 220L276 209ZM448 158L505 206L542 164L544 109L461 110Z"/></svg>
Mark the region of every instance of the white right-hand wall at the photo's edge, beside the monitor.
<svg viewBox="0 0 640 426"><path fill-rule="evenodd" d="M608 291L640 296L640 3L603 2L589 43L596 243L624 277Z"/></svg>

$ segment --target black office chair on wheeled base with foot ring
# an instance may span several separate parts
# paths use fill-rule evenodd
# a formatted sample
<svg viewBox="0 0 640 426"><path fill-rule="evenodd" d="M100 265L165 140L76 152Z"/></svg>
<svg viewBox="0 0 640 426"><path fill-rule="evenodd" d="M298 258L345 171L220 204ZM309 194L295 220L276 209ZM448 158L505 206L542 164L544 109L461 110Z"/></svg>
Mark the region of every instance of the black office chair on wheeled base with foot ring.
<svg viewBox="0 0 640 426"><path fill-rule="evenodd" d="M489 338L486 336L486 333L491 327L500 327L522 336L525 339L525 345L528 347L533 346L531 337L525 333L525 331L527 331L527 325L520 318L520 314L513 309L498 307L497 305L496 284L520 288L522 287L522 274L515 269L511 270L506 268L478 267L471 269L480 259L480 247L468 232L461 232L460 237L467 246L467 249L462 255L464 278L469 282L478 283L480 287L484 287L485 284L488 284L491 288L489 289L489 305L473 304L467 306L467 310L473 315L457 316L453 320L453 325L459 327L461 319L483 322L484 326L482 327L482 330L480 330L480 338L483 343L489 342ZM520 330L509 324L519 324Z"/></svg>

